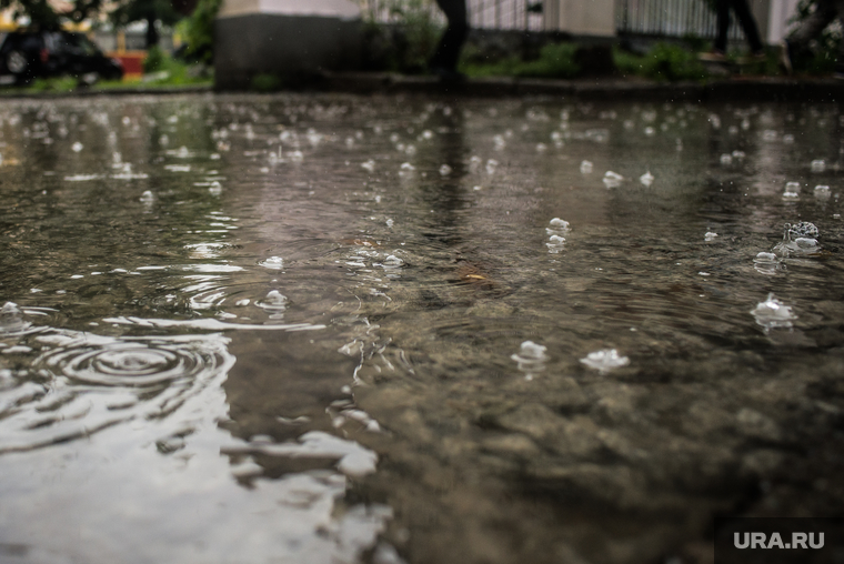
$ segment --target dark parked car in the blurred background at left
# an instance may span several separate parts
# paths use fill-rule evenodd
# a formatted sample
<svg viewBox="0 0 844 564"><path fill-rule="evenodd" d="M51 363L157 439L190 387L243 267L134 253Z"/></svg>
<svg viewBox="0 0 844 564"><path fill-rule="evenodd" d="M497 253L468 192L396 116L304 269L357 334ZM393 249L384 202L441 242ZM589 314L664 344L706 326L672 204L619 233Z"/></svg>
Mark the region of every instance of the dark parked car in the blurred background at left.
<svg viewBox="0 0 844 564"><path fill-rule="evenodd" d="M13 31L0 46L0 84L69 74L91 84L120 80L123 66L105 57L84 34L69 31Z"/></svg>

